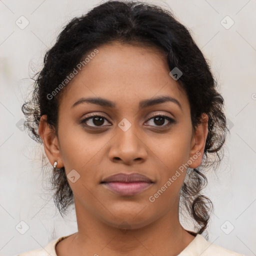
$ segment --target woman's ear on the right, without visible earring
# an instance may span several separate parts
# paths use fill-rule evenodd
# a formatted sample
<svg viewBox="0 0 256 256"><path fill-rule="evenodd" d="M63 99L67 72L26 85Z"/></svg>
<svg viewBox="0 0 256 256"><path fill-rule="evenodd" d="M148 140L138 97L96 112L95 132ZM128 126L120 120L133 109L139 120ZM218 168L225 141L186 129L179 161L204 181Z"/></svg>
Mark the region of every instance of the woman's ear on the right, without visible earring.
<svg viewBox="0 0 256 256"><path fill-rule="evenodd" d="M202 113L201 123L195 127L195 132L191 139L191 149L190 149L190 161L189 168L196 168L200 166L202 161L202 155L205 147L205 142L208 134L208 115Z"/></svg>

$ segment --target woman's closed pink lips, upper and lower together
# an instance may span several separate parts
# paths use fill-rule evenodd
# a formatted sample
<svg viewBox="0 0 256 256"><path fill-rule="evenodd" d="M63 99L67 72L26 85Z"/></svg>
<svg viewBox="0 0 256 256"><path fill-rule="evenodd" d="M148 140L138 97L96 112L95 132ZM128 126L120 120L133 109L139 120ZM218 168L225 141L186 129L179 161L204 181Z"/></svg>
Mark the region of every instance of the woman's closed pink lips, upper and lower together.
<svg viewBox="0 0 256 256"><path fill-rule="evenodd" d="M100 183L107 189L110 189L120 195L130 196L142 192L154 182L140 173L117 173L108 176Z"/></svg>

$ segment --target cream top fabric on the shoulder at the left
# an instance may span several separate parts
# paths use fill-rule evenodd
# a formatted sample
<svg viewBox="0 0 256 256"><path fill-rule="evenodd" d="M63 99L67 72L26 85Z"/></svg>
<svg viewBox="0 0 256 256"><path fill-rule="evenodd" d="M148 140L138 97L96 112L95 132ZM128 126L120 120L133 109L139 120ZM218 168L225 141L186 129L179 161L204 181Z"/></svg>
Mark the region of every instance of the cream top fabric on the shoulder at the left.
<svg viewBox="0 0 256 256"><path fill-rule="evenodd" d="M26 252L20 253L16 256L49 256L49 255L57 256L56 251L55 251L55 246L60 240L64 239L65 237L67 237L67 236L61 236L57 239L52 240L44 247L26 251Z"/></svg>

